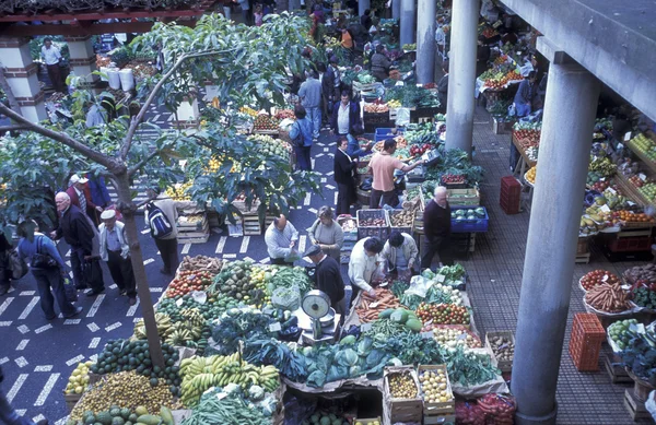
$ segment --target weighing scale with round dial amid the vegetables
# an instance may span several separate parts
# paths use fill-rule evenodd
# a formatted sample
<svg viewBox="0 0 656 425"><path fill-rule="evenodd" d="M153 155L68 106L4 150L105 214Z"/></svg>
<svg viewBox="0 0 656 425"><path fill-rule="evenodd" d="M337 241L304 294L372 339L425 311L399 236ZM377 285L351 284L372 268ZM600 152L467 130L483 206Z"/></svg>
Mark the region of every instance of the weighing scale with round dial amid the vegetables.
<svg viewBox="0 0 656 425"><path fill-rule="evenodd" d="M298 327L303 329L303 344L314 345L335 339L339 316L330 307L330 298L324 292L313 290L305 294L301 309L294 315L298 317Z"/></svg>

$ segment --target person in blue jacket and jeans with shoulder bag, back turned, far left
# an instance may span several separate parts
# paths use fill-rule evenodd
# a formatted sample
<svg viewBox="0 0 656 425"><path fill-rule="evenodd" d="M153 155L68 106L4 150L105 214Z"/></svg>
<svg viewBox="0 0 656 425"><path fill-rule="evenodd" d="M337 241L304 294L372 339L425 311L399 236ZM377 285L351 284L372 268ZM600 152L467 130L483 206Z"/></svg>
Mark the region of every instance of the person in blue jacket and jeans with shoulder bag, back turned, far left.
<svg viewBox="0 0 656 425"><path fill-rule="evenodd" d="M52 240L37 232L33 221L20 223L16 235L21 238L17 246L19 257L30 263L46 320L54 320L57 317L55 300L65 318L78 316L82 307L74 307L66 297L63 288L66 264Z"/></svg>

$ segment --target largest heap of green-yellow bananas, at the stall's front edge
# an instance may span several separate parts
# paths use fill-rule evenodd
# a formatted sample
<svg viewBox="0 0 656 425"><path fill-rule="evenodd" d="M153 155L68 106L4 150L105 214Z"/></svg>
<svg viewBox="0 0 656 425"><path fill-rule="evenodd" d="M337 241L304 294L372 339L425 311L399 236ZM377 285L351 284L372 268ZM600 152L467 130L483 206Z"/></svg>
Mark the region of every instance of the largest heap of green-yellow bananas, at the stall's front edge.
<svg viewBox="0 0 656 425"><path fill-rule="evenodd" d="M186 406L198 403L200 396L211 387L236 383L247 390L257 385L271 392L278 388L279 373L274 366L255 366L241 362L238 353L230 356L190 357L180 363L180 400Z"/></svg>

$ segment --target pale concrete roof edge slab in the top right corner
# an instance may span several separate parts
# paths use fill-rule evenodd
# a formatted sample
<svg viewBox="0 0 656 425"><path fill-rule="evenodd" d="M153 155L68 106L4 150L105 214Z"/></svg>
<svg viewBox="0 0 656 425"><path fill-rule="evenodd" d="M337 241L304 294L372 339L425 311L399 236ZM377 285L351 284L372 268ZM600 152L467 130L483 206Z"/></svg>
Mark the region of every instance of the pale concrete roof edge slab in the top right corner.
<svg viewBox="0 0 656 425"><path fill-rule="evenodd" d="M654 0L502 0L626 102L656 120Z"/></svg>

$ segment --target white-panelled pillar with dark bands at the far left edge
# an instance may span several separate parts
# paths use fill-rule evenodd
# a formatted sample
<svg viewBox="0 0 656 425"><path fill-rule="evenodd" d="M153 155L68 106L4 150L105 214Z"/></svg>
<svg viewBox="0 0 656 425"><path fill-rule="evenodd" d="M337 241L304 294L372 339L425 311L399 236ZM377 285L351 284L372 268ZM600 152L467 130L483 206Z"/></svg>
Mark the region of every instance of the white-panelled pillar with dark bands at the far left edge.
<svg viewBox="0 0 656 425"><path fill-rule="evenodd" d="M0 66L12 88L21 115L33 122L47 119L45 94L38 85L38 66L30 55L30 38L0 37Z"/></svg>

